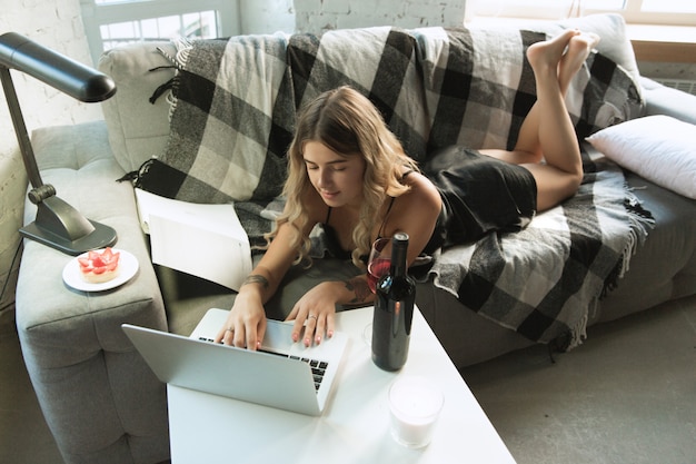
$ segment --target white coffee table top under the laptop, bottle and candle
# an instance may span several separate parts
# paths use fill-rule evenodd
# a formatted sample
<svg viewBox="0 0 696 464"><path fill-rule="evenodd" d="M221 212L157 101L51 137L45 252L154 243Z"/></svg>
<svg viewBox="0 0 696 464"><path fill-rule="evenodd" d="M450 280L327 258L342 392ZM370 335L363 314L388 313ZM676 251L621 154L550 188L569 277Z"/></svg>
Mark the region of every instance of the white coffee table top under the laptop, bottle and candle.
<svg viewBox="0 0 696 464"><path fill-rule="evenodd" d="M420 312L399 373L372 364L362 336L371 318L371 307L337 315L350 343L320 417L169 385L171 462L515 463ZM406 374L434 379L445 394L432 442L420 450L400 446L389 433L387 393Z"/></svg>

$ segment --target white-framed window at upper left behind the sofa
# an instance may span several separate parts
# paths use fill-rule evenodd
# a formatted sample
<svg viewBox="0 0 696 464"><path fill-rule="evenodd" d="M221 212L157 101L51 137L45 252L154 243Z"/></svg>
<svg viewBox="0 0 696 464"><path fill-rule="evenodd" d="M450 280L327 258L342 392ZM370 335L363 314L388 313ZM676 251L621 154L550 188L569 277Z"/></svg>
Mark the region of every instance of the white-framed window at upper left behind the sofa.
<svg viewBox="0 0 696 464"><path fill-rule="evenodd" d="M80 0L95 63L123 43L239 32L238 0Z"/></svg>

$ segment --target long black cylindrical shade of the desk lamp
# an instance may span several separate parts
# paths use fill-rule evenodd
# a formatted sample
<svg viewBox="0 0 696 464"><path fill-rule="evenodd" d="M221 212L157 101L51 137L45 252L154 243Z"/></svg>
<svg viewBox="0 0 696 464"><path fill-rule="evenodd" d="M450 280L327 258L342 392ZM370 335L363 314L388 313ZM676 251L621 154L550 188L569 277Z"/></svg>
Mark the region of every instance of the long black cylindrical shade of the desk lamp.
<svg viewBox="0 0 696 464"><path fill-rule="evenodd" d="M84 102L116 93L113 80L17 32L0 36L0 65L24 72Z"/></svg>

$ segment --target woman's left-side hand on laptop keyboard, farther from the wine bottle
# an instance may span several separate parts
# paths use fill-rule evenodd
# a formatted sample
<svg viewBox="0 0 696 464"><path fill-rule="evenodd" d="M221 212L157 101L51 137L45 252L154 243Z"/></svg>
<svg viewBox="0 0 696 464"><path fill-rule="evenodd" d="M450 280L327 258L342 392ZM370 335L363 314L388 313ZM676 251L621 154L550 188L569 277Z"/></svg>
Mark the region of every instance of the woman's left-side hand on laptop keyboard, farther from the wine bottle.
<svg viewBox="0 0 696 464"><path fill-rule="evenodd" d="M237 295L235 305L225 325L215 337L215 342L240 348L258 349L265 334L266 312L261 299L253 293L242 292Z"/></svg>

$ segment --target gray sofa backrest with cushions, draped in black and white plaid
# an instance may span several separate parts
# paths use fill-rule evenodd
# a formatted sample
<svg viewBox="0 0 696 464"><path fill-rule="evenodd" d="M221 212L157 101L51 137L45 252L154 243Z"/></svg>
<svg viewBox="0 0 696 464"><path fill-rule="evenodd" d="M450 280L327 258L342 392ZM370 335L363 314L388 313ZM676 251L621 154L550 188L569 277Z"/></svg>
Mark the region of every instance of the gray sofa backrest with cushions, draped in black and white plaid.
<svg viewBox="0 0 696 464"><path fill-rule="evenodd" d="M150 175L162 181L176 180L166 191L157 191L157 187L155 192L203 203L267 198L280 191L281 158L295 111L324 90L351 85L376 103L407 152L419 161L434 149L453 144L510 149L535 100L525 49L568 27L603 38L600 55L590 56L587 71L578 73L568 92L578 137L639 116L643 106L639 86L635 83L637 66L623 19L604 14L530 23L528 29L366 28L329 31L320 37L238 37L229 42L198 42L193 47L189 43L179 50L165 42L111 50L99 65L118 87L116 97L103 102L110 142L127 171L158 158ZM255 43L256 49L247 42ZM197 49L202 48L212 50L217 58L208 60L205 53L209 51L203 50L202 58L192 59L196 65L191 65L189 55L199 53ZM217 49L221 51L218 53ZM207 65L211 60L217 67ZM278 77L278 71L274 71L275 78L267 75L268 69L275 69L269 65L272 60L287 66L289 77L269 87L265 81ZM201 119L200 128L190 130L191 115L180 116L186 111L176 105L176 91L173 98L166 91L153 103L149 101L153 95L157 97L158 89L166 88L162 86L175 76L177 67L181 70L175 89L177 85L181 89L191 76L197 79L189 79L188 98L198 100L199 96L191 93L208 91L210 95L200 100L213 101L217 86L223 90L218 93L232 103L243 102L243 110L239 105L226 103L220 108L228 110L218 110L208 120L198 111L195 118ZM225 76L220 79L221 75ZM251 86L259 87L251 96L245 86L259 80L262 85ZM203 111L210 111L212 105L203 106ZM248 108L268 116L267 128L250 128ZM178 115L183 119L177 120ZM181 136L181 130L193 134ZM242 136L249 132L247 138L253 142L240 142L229 136L230 130ZM258 134L251 136L252 131ZM271 166L266 162L269 154L274 155ZM212 165L219 169L210 178ZM166 169L159 169L162 166ZM265 179L269 171L274 176Z"/></svg>

